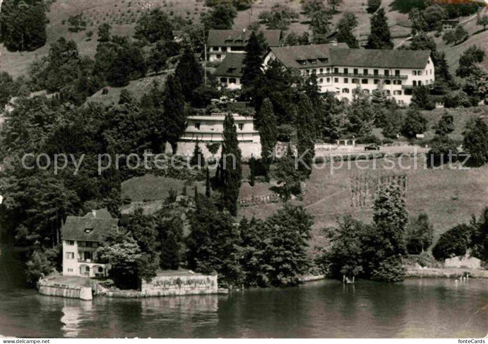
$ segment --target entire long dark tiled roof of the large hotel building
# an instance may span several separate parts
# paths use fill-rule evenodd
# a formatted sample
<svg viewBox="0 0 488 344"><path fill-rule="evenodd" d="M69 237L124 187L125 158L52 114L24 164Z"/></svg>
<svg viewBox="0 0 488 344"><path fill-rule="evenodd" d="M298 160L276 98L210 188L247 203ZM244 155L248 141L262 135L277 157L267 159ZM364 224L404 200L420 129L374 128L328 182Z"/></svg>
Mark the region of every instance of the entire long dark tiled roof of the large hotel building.
<svg viewBox="0 0 488 344"><path fill-rule="evenodd" d="M344 45L298 45L271 48L271 51L286 67L291 68L346 66L423 69L430 57L429 50L349 49ZM312 63L314 59L315 64ZM299 60L305 61L305 64L300 64Z"/></svg>

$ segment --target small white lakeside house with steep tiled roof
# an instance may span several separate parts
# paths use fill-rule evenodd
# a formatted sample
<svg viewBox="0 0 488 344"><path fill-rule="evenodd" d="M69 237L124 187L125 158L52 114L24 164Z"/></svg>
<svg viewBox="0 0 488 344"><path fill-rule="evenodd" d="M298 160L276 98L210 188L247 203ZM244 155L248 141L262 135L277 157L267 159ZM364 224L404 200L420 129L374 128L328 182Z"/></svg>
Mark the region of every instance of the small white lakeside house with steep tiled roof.
<svg viewBox="0 0 488 344"><path fill-rule="evenodd" d="M106 209L68 216L61 229L63 275L106 277L109 267L97 256L97 248L118 223Z"/></svg>

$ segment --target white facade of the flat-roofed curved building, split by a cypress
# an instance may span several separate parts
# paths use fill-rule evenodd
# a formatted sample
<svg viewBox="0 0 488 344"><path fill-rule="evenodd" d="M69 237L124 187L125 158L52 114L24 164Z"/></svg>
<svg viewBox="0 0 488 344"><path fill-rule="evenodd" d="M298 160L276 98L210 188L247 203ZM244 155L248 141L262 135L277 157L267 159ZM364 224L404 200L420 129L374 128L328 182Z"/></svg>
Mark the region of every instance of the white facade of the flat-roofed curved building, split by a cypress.
<svg viewBox="0 0 488 344"><path fill-rule="evenodd" d="M259 132L254 130L254 118L233 114L239 142L260 142ZM223 141L225 114L188 116L182 141Z"/></svg>

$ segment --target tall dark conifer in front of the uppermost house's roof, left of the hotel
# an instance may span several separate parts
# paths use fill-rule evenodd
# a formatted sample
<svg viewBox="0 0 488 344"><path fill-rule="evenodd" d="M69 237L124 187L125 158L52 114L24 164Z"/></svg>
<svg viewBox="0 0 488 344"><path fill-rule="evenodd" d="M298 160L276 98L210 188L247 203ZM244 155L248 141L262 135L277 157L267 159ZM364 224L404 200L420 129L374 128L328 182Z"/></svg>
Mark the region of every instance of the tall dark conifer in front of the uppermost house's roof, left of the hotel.
<svg viewBox="0 0 488 344"><path fill-rule="evenodd" d="M249 36L245 47L244 70L241 78L244 87L252 87L254 81L263 74L263 56L266 46L263 33L256 34L255 31Z"/></svg>

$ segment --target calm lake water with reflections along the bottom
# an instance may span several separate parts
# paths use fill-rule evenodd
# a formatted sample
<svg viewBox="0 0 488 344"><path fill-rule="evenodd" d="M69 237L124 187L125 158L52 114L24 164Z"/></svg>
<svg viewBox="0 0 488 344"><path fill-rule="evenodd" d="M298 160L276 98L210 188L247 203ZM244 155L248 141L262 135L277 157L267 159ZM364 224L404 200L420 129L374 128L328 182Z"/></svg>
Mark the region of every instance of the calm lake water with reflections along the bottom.
<svg viewBox="0 0 488 344"><path fill-rule="evenodd" d="M81 301L23 284L1 248L0 334L16 337L484 337L488 280L319 281L219 296Z"/></svg>

